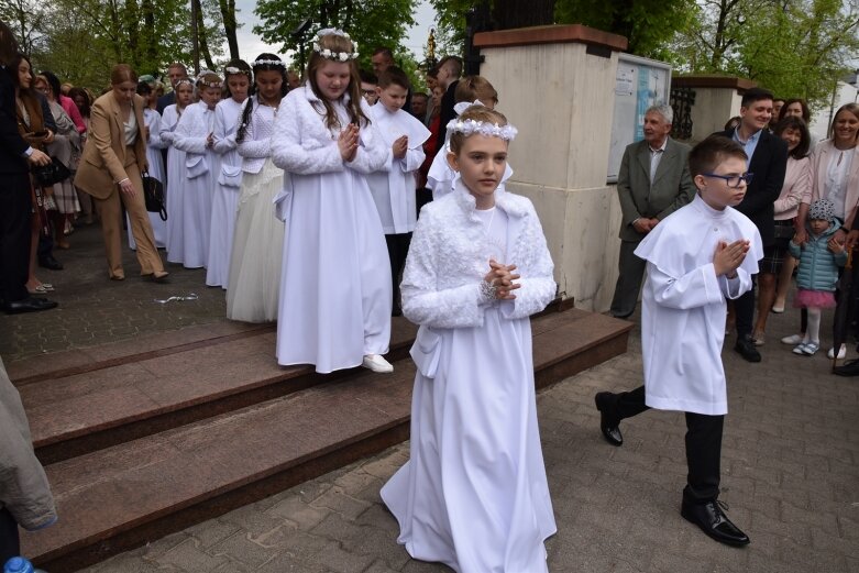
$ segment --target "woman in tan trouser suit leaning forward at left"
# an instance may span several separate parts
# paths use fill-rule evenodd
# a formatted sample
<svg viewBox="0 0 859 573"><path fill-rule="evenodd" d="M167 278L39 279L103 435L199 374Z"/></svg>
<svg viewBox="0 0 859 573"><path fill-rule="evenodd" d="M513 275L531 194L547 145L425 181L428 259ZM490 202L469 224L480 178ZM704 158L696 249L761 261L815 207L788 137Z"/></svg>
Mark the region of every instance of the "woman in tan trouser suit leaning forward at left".
<svg viewBox="0 0 859 573"><path fill-rule="evenodd" d="M75 185L91 195L101 218L110 278L123 280L120 200L131 220L137 243L141 275L163 280L167 276L155 247L141 172L146 170L145 102L135 93L137 75L118 64L110 75L112 89L92 104L89 134Z"/></svg>

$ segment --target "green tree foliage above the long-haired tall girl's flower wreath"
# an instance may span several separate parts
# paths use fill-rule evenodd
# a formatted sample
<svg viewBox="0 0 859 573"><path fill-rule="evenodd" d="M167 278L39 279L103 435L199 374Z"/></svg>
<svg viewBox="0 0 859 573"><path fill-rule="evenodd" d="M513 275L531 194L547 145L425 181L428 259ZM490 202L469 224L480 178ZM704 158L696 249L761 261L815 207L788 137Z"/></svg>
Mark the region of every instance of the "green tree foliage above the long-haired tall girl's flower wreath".
<svg viewBox="0 0 859 573"><path fill-rule="evenodd" d="M283 51L307 52L321 29L339 27L359 44L359 64L370 67L373 48L385 46L395 54L406 52L403 38L415 23L412 0L260 0L255 13L262 23L254 33L269 44L282 44ZM302 38L291 35L306 19L310 27Z"/></svg>

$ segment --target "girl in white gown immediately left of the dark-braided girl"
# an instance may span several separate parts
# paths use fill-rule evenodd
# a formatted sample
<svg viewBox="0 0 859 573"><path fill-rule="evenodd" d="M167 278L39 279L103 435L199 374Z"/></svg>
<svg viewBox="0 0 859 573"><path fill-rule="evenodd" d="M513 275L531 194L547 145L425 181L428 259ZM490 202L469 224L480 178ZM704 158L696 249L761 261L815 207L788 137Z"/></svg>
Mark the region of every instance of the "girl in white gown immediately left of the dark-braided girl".
<svg viewBox="0 0 859 573"><path fill-rule="evenodd" d="M214 153L220 155L212 192L212 219L209 235L209 261L206 265L206 285L227 288L230 274L230 252L233 247L235 209L239 205L239 187L242 183L242 157L236 150L235 133L242 103L251 87L251 66L235 59L227 64L227 99L214 107Z"/></svg>

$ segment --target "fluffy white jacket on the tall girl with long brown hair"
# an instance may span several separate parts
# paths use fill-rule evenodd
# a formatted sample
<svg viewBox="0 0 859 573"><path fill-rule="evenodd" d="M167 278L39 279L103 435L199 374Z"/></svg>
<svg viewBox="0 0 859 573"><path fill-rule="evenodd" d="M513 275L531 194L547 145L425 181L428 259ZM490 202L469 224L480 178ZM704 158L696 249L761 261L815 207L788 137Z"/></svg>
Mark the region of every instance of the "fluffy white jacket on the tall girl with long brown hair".
<svg viewBox="0 0 859 573"><path fill-rule="evenodd" d="M343 102L348 101L346 93L342 102L334 102L341 125L349 124L349 114L343 107ZM361 109L367 118L372 117L363 98ZM326 126L324 110L309 84L286 95L272 136L272 161L275 165L298 175L342 172L345 168L365 175L388 170L392 152L372 123L361 126L355 158L344 162L337 144L340 130L332 131Z"/></svg>

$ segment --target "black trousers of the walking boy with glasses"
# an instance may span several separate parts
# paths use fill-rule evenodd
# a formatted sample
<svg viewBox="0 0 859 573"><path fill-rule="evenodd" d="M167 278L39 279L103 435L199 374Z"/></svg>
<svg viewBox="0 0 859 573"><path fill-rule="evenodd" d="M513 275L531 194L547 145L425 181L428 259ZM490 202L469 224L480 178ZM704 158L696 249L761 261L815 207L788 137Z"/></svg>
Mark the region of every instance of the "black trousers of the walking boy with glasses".
<svg viewBox="0 0 859 573"><path fill-rule="evenodd" d="M617 421L650 409L645 404L645 387L615 394ZM725 416L686 414L686 487L683 500L693 504L713 502L719 496L722 475L722 431Z"/></svg>

